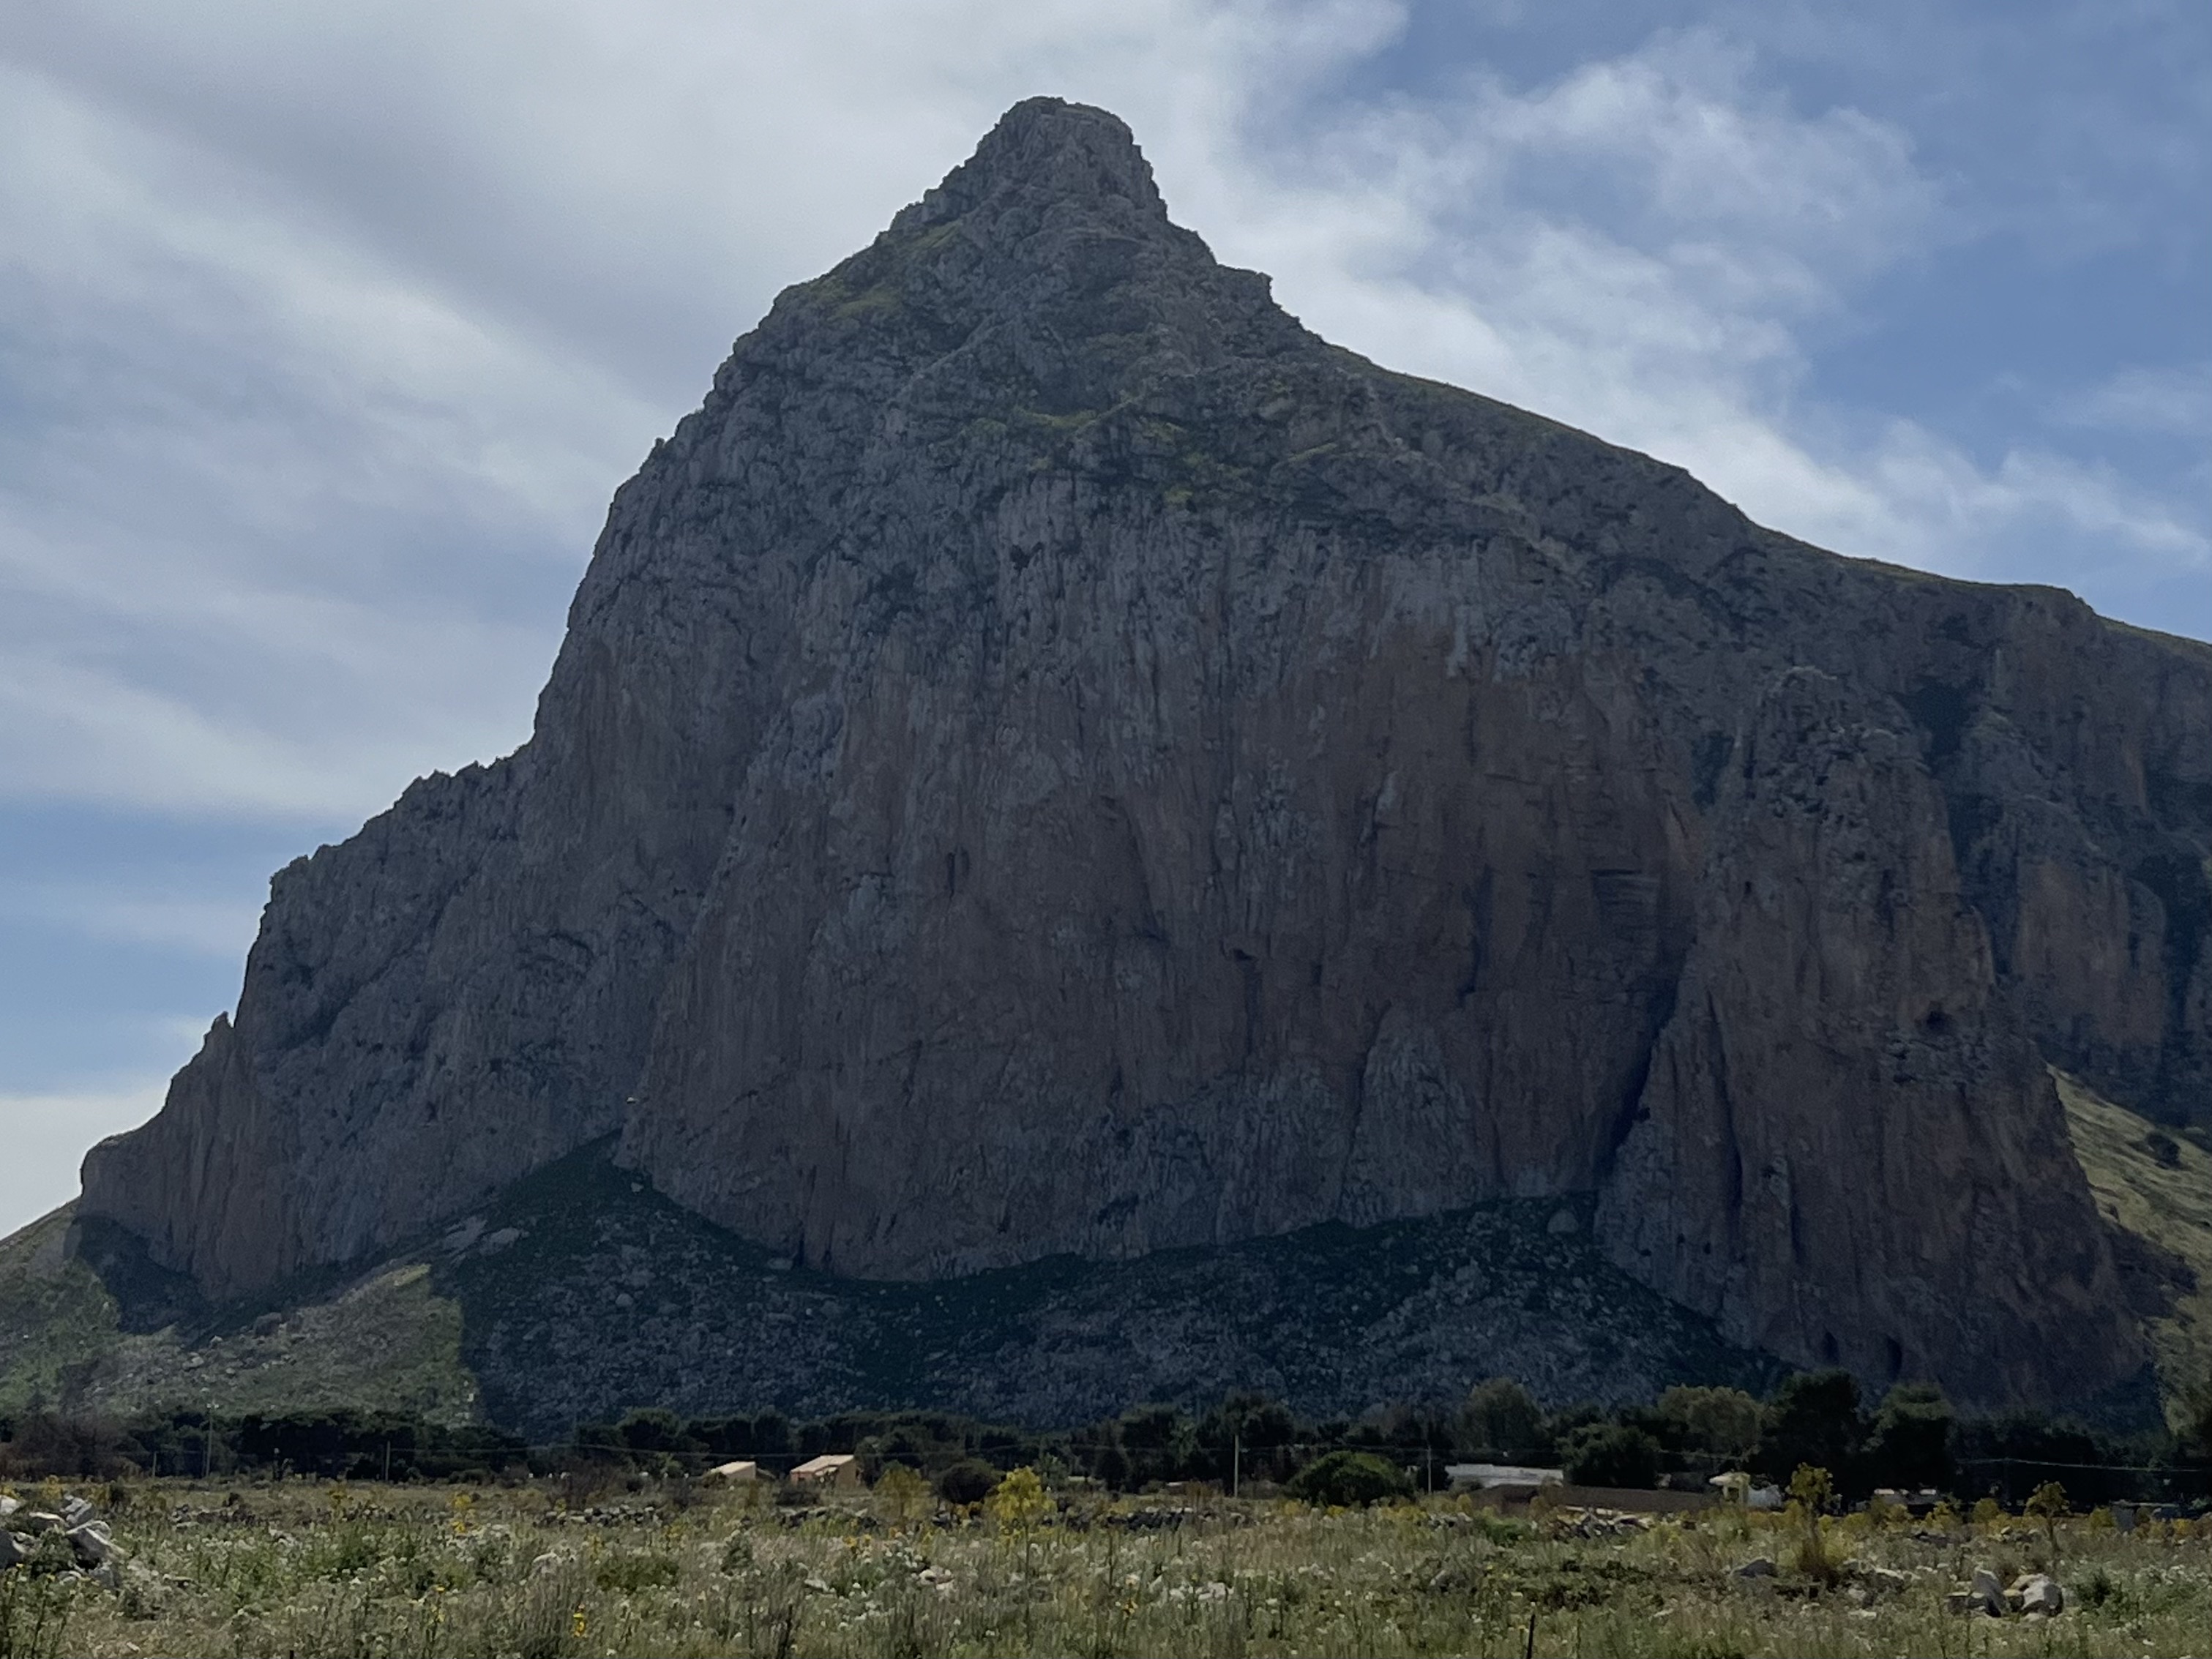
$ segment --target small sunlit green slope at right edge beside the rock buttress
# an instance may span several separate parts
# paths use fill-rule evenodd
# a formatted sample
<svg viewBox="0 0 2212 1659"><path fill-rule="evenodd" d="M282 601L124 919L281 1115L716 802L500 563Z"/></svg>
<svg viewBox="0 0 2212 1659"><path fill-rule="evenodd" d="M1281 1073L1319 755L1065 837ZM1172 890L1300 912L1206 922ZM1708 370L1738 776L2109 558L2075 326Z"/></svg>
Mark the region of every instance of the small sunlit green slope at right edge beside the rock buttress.
<svg viewBox="0 0 2212 1659"><path fill-rule="evenodd" d="M2179 1427L2190 1391L2212 1387L2212 1152L2066 1073L2053 1077L2097 1208L2185 1267L2168 1279L2166 1312L2148 1321L2159 1396Z"/></svg>

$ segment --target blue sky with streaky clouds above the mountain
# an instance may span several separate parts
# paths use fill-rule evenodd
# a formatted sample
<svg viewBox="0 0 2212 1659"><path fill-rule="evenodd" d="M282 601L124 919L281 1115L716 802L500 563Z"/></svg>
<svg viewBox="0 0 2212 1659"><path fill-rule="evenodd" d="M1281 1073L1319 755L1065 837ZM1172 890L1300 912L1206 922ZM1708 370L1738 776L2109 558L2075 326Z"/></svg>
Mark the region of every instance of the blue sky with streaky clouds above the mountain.
<svg viewBox="0 0 2212 1659"><path fill-rule="evenodd" d="M1033 93L1385 365L2212 637L2203 0L18 0L0 1234L270 872L526 737L730 341Z"/></svg>

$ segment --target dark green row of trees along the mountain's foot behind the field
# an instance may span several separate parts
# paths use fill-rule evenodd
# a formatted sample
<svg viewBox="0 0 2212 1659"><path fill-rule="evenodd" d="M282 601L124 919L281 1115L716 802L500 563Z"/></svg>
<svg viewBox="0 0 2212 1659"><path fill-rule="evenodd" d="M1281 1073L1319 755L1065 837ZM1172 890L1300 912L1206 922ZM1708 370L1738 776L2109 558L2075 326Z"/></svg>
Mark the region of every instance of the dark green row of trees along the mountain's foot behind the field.
<svg viewBox="0 0 2212 1659"><path fill-rule="evenodd" d="M1365 1418L1303 1418L1279 1400L1230 1394L1199 1413L1144 1405L1057 1431L945 1411L792 1420L781 1411L684 1418L639 1409L615 1422L580 1422L540 1447L484 1425L396 1411L173 1411L131 1422L40 1411L0 1418L0 1473L487 1480L595 1469L675 1478L728 1460L781 1473L821 1453L854 1453L869 1480L902 1464L949 1502L975 1502L1022 1464L1110 1491L1175 1482L1265 1491L1292 1486L1329 1453L1369 1453L1402 1471L1407 1489L1444 1489L1453 1462L1555 1467L1588 1486L1703 1486L1730 1469L1787 1484L1809 1464L1829 1471L1845 1500L1933 1489L2017 1506L2057 1482L2070 1502L2090 1506L2212 1491L2212 1405L2197 1416L2183 1433L2137 1436L2037 1411L1962 1418L1933 1385L1902 1383L1867 1398L1849 1371L1792 1374L1763 1400L1741 1389L1672 1387L1648 1405L1555 1411L1511 1378L1491 1378L1455 1405Z"/></svg>

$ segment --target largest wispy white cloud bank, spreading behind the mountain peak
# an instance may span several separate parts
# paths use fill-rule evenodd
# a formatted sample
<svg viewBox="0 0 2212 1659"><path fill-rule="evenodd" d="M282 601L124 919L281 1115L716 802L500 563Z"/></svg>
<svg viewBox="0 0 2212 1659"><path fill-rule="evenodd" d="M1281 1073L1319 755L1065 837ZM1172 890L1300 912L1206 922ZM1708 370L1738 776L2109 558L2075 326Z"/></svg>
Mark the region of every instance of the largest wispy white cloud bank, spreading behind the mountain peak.
<svg viewBox="0 0 2212 1659"><path fill-rule="evenodd" d="M1851 553L2188 568L2062 456L1805 403L1938 234L1896 126L1661 33L1349 95L1385 0L80 0L0 15L0 792L361 814L511 748L606 493L776 288L1015 97L1137 128L1312 325ZM2157 376L2104 420L2188 414ZM2095 400L2093 400L2095 403ZM2179 411L2179 414L2177 414ZM2053 531L2053 526L2057 526Z"/></svg>

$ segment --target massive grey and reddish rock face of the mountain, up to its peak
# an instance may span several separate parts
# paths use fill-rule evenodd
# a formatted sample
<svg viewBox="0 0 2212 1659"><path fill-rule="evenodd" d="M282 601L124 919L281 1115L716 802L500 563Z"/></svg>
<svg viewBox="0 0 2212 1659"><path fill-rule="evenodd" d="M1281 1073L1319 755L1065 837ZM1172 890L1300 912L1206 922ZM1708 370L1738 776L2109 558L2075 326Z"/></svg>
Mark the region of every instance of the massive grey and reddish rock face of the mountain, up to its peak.
<svg viewBox="0 0 2212 1659"><path fill-rule="evenodd" d="M86 1208L210 1287L611 1128L929 1276L1599 1192L1975 1398L2141 1363L2042 1057L2212 1117L2212 653L1387 374L1037 100L608 515L531 743L276 880Z"/></svg>

